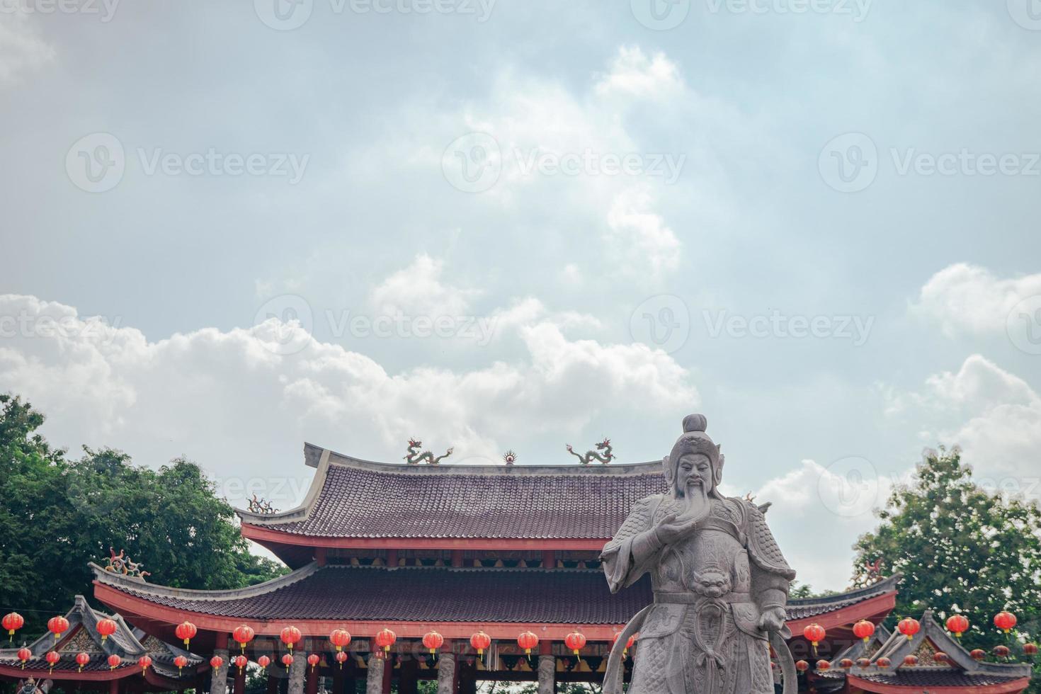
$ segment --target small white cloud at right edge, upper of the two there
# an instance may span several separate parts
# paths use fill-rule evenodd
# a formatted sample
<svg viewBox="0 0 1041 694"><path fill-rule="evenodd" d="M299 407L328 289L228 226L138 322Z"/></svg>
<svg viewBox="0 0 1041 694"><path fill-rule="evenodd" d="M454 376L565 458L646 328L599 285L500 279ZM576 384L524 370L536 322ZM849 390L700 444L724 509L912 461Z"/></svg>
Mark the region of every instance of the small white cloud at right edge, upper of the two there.
<svg viewBox="0 0 1041 694"><path fill-rule="evenodd" d="M948 336L1004 331L1013 307L1038 295L1041 274L1002 279L985 267L957 263L930 278L911 311L939 322Z"/></svg>

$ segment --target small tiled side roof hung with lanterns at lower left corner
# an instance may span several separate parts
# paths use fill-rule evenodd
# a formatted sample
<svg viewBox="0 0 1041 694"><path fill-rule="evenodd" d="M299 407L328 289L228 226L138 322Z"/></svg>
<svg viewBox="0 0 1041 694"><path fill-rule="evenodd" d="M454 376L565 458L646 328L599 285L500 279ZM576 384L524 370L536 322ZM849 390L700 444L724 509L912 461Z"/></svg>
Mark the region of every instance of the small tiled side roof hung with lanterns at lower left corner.
<svg viewBox="0 0 1041 694"><path fill-rule="evenodd" d="M49 632L33 641L28 646L32 658L25 663L24 669L22 662L18 660L18 647L0 649L0 671L9 673L17 669L20 675L48 672L51 666L44 656L49 650L56 650L61 656L61 660L53 667L53 674L48 674L50 677L57 675L55 678L61 678L61 673L68 673L70 676L80 674L79 665L75 661L76 653L79 652L85 652L91 657L91 661L82 668L83 672L109 673L112 676L124 676L131 674L131 671L139 672L137 659L145 654L152 659L152 669L169 679L193 676L196 668L203 663L200 657L130 626L119 614L107 615L94 610L82 595L76 596L72 609L65 617L69 620L69 629L58 643L55 645L54 636ZM98 622L102 619L111 619L116 622L116 633L104 641L97 628ZM109 656L119 656L122 659L115 671L107 663ZM188 659L188 665L183 673L179 673L177 666L174 665L174 658L177 656Z"/></svg>

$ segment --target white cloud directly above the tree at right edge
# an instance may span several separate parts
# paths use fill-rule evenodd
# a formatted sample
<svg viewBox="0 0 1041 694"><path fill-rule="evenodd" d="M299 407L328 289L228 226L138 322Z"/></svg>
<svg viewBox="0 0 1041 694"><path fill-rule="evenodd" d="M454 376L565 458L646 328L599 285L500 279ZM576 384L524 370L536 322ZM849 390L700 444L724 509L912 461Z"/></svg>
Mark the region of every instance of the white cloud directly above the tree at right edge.
<svg viewBox="0 0 1041 694"><path fill-rule="evenodd" d="M912 423L923 445L959 445L986 477L1041 472L1041 396L1021 378L981 355L957 372L929 377L911 392L890 389L887 414Z"/></svg>

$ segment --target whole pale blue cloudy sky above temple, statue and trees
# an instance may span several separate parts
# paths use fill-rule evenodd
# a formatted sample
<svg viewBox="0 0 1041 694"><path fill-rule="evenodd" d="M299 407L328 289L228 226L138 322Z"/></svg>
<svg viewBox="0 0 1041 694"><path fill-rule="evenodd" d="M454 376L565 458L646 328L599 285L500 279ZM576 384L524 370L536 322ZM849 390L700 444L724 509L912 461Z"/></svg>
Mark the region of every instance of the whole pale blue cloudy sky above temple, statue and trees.
<svg viewBox="0 0 1041 694"><path fill-rule="evenodd" d="M1041 496L1031 2L4 0L0 391L280 508L701 411L842 588L926 446Z"/></svg>

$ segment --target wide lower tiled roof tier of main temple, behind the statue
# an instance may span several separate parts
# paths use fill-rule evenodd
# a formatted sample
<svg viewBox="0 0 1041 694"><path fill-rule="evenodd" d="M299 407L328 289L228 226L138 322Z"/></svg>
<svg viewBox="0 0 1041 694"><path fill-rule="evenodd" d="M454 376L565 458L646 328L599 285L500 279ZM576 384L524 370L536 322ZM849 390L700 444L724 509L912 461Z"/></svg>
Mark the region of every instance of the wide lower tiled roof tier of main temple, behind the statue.
<svg viewBox="0 0 1041 694"><path fill-rule="evenodd" d="M794 622L850 610L895 594L893 577L866 589L827 598L791 600ZM466 622L620 626L653 600L644 577L616 595L596 569L451 568L327 565L315 563L258 586L233 591L189 591L135 582L95 565L95 583L136 598L126 610L157 618L167 608L225 618L228 625L256 622L258 634L279 620L373 622ZM119 599L102 591L99 598ZM882 608L887 612L889 605ZM126 611L125 610L125 611ZM874 610L874 608L872 608ZM846 614L848 613L848 614ZM179 618L179 617L178 617ZM173 622L173 615L171 615ZM222 620L223 621L223 620ZM234 624L232 623L234 622ZM305 624L298 624L301 628ZM801 627L797 627L801 631ZM306 633L306 629L305 629Z"/></svg>

